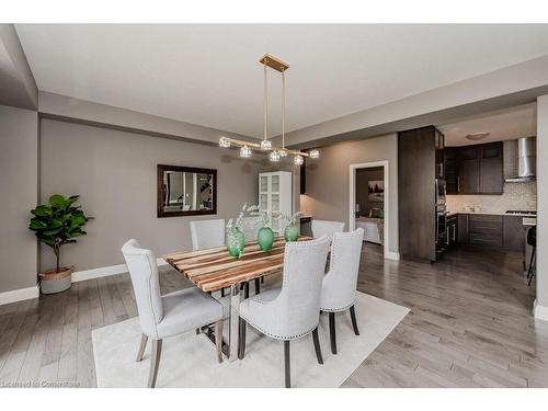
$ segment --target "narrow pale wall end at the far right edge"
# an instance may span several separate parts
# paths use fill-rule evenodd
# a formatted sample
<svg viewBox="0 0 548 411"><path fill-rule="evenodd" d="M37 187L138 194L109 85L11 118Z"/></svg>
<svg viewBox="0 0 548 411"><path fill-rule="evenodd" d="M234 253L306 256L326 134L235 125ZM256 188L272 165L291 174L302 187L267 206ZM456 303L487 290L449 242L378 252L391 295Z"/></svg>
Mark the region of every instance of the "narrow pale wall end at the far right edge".
<svg viewBox="0 0 548 411"><path fill-rule="evenodd" d="M548 315L548 95L537 100L537 302Z"/></svg>

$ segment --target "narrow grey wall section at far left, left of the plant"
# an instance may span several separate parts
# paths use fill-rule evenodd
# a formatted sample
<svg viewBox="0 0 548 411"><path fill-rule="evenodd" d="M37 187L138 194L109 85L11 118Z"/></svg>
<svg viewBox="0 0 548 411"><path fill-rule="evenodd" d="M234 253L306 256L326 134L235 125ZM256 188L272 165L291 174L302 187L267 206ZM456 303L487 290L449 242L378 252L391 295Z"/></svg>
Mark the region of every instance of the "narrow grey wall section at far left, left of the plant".
<svg viewBox="0 0 548 411"><path fill-rule="evenodd" d="M0 293L36 285L28 213L38 195L38 115L0 105Z"/></svg>

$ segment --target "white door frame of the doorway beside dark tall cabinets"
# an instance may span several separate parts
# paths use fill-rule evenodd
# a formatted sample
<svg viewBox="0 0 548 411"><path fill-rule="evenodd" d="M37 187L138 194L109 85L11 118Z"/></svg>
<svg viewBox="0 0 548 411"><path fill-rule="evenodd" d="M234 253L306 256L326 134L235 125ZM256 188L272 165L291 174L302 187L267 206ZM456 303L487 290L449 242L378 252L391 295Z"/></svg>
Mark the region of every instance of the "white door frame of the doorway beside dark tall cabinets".
<svg viewBox="0 0 548 411"><path fill-rule="evenodd" d="M390 243L390 227L392 225L392 215L390 213L390 185L389 185L389 162L388 160L381 161L369 161L362 162L356 164L349 165L350 173L350 196L349 196L349 231L353 231L356 229L356 219L354 216L354 205L356 203L356 170L357 169L370 169L374 167L383 167L383 180L385 182L385 201L384 201L384 215L385 215L385 225L384 225L384 254L385 259L388 260L399 260L399 254L397 252L389 251L388 244Z"/></svg>

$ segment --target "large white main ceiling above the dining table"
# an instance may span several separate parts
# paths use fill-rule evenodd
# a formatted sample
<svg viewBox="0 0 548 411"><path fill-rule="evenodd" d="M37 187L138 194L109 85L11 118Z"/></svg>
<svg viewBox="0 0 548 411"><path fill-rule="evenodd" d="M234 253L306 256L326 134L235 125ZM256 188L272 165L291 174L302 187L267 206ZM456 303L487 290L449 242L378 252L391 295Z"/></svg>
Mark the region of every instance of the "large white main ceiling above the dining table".
<svg viewBox="0 0 548 411"><path fill-rule="evenodd" d="M548 55L548 25L18 24L41 90L260 137L290 66L295 130ZM281 132L272 72L270 135Z"/></svg>

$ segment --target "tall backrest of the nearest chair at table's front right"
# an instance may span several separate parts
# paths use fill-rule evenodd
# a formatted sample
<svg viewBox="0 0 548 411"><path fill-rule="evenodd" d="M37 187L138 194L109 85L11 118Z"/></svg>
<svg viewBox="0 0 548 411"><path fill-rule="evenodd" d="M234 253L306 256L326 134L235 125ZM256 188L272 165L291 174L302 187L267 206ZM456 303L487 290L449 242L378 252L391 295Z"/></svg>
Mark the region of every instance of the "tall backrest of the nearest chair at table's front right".
<svg viewBox="0 0 548 411"><path fill-rule="evenodd" d="M298 338L318 327L328 252L327 237L285 246L284 279L275 301L278 338Z"/></svg>

